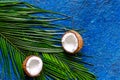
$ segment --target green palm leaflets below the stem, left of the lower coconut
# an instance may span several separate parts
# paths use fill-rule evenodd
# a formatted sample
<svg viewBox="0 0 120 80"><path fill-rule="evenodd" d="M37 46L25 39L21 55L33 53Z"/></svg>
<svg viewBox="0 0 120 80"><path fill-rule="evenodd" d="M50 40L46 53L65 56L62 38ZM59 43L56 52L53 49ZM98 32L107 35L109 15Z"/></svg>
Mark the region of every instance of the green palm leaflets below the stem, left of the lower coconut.
<svg viewBox="0 0 120 80"><path fill-rule="evenodd" d="M18 79L20 77L24 78L24 73L22 69L22 62L24 60L24 55L11 46L5 39L0 37L0 49L2 51L1 60L3 63L2 66L2 75L5 77L5 74L8 73L7 77L12 78L10 71L10 62L12 63L12 67L14 69L14 73Z"/></svg>

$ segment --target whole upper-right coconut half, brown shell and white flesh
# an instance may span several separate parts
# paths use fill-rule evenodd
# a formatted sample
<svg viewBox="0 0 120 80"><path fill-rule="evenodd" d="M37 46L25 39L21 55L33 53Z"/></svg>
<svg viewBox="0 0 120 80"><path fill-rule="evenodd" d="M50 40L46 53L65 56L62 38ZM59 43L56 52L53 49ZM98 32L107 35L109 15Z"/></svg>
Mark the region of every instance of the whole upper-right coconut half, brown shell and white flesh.
<svg viewBox="0 0 120 80"><path fill-rule="evenodd" d="M72 54L77 53L83 46L81 35L74 30L67 31L63 35L61 42L63 49Z"/></svg>

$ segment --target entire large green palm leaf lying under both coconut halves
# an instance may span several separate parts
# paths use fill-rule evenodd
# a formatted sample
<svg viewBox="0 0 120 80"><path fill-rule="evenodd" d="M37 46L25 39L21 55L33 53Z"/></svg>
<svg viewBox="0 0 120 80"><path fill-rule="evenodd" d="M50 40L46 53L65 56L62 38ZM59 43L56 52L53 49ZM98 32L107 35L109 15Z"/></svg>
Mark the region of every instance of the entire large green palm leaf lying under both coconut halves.
<svg viewBox="0 0 120 80"><path fill-rule="evenodd" d="M95 80L84 67L80 56L65 55L61 37L68 27L54 24L68 16L34 7L25 2L0 2L0 62L2 76L12 79L12 70L18 80L27 75L22 69L23 60L29 55L43 59L44 69L35 80ZM35 14L40 14L36 16ZM47 16L45 16L47 15ZM58 17L60 16L60 18ZM12 64L12 66L11 66ZM28 80L28 79L27 79Z"/></svg>

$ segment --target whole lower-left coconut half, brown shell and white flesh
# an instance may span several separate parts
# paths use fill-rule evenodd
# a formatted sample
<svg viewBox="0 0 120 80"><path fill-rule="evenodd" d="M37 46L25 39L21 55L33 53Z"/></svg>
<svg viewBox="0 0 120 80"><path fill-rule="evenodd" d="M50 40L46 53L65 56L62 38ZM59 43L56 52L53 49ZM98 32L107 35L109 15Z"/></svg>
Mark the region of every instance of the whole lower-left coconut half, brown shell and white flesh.
<svg viewBox="0 0 120 80"><path fill-rule="evenodd" d="M37 56L28 56L23 62L23 69L25 73L30 77L39 76L43 68L43 62L41 58Z"/></svg>

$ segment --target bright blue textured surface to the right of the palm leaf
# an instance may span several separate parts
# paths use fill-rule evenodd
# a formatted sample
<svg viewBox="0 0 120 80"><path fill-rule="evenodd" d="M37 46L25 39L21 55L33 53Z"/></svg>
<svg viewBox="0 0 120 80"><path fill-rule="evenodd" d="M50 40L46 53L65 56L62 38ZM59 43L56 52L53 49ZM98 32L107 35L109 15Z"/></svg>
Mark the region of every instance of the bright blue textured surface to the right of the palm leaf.
<svg viewBox="0 0 120 80"><path fill-rule="evenodd" d="M120 0L22 0L73 19L64 25L83 28L84 61L97 80L120 80Z"/></svg>

